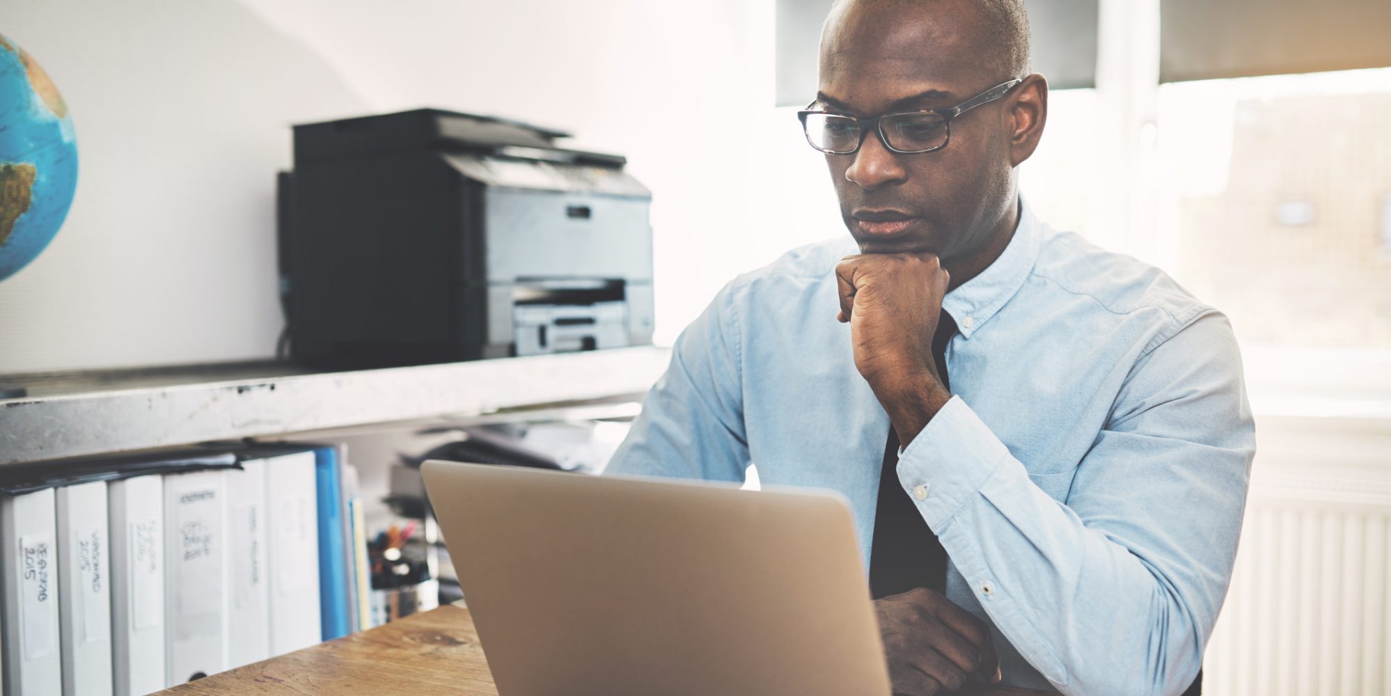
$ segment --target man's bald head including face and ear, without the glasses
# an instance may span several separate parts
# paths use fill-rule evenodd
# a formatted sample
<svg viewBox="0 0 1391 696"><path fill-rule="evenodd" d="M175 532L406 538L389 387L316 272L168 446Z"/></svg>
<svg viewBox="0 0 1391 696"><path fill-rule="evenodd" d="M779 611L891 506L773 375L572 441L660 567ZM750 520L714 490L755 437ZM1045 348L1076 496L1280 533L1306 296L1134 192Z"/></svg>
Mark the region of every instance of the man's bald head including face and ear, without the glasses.
<svg viewBox="0 0 1391 696"><path fill-rule="evenodd" d="M883 121L860 149L828 154L842 217L862 253L929 251L965 282L1014 232L1015 168L1034 154L1047 118L1047 81L1029 74L1024 0L837 0L821 32L812 111L871 119L950 114L942 146L889 149ZM874 236L858 215L908 218ZM972 271L974 270L974 271Z"/></svg>

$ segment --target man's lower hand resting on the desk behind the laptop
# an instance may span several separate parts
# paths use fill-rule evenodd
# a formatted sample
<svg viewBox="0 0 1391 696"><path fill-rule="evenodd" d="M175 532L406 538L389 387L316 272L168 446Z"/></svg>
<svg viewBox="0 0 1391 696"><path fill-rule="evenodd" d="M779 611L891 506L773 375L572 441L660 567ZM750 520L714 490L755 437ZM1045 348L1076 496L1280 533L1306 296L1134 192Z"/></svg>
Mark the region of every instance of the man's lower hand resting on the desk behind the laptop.
<svg viewBox="0 0 1391 696"><path fill-rule="evenodd" d="M990 643L990 631L944 596L918 588L878 599L874 606L893 693L954 692L976 672L999 683L1000 658Z"/></svg>

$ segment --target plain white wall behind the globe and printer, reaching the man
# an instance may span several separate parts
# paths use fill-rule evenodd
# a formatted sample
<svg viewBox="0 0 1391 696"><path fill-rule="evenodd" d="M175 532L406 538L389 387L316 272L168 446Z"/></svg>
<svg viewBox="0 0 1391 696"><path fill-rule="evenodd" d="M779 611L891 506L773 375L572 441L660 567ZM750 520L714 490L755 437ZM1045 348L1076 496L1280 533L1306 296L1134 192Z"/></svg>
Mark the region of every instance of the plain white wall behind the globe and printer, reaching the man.
<svg viewBox="0 0 1391 696"><path fill-rule="evenodd" d="M270 356L294 122L437 106L626 154L654 190L659 343L734 274L846 233L772 108L773 0L21 0L0 31L81 156L63 232L0 283L0 374Z"/></svg>

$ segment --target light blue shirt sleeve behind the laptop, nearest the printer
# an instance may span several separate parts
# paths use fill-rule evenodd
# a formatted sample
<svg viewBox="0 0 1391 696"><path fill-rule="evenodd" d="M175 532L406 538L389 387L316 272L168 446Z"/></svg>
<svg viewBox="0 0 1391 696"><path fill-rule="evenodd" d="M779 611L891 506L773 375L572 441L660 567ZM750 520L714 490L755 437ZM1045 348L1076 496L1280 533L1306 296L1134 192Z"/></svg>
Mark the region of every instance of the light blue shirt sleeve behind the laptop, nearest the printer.
<svg viewBox="0 0 1391 696"><path fill-rule="evenodd" d="M676 339L605 474L744 481L748 443L733 283Z"/></svg>

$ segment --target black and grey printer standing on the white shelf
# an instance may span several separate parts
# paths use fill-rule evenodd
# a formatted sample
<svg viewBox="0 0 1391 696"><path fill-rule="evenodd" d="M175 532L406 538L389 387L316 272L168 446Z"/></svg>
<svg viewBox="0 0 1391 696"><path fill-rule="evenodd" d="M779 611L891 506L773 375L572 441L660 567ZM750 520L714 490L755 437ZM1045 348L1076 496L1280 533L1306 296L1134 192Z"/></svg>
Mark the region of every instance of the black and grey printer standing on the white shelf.
<svg viewBox="0 0 1391 696"><path fill-rule="evenodd" d="M302 364L648 345L651 192L568 133L424 108L294 126L281 293Z"/></svg>

